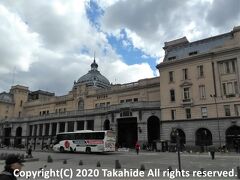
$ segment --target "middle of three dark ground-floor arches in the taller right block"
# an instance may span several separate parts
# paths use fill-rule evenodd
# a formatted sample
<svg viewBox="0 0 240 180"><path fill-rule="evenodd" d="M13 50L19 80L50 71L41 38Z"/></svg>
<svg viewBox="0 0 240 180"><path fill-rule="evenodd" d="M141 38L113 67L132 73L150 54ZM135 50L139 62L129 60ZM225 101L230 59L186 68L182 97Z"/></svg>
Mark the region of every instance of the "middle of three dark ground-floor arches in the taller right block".
<svg viewBox="0 0 240 180"><path fill-rule="evenodd" d="M195 144L197 146L212 145L212 133L207 128L199 128L195 134Z"/></svg>

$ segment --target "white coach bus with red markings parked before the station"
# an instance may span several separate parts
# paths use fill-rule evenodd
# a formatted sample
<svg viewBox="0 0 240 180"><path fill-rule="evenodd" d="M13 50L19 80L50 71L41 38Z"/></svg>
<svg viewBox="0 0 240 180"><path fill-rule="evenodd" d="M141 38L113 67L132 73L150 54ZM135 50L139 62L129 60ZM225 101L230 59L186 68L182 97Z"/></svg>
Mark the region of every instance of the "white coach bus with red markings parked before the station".
<svg viewBox="0 0 240 180"><path fill-rule="evenodd" d="M53 150L56 152L112 152L116 136L111 130L58 133Z"/></svg>

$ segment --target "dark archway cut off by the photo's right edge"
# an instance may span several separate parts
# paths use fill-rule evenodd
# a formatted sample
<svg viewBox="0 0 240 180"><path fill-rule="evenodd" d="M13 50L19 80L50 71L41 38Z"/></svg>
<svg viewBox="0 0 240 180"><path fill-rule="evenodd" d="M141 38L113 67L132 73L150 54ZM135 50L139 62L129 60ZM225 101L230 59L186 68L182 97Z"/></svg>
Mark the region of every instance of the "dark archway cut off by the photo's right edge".
<svg viewBox="0 0 240 180"><path fill-rule="evenodd" d="M239 126L231 126L226 130L226 145L228 149L236 149L239 150L240 145L240 127Z"/></svg>

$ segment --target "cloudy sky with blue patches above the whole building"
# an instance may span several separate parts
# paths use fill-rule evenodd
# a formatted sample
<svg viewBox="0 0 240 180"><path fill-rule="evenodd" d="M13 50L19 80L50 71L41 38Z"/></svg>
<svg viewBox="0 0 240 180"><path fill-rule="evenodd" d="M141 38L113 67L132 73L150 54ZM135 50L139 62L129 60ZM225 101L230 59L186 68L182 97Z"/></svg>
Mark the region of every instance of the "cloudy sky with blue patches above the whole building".
<svg viewBox="0 0 240 180"><path fill-rule="evenodd" d="M0 92L21 84L67 94L94 52L113 84L158 76L165 41L238 25L239 0L1 0Z"/></svg>

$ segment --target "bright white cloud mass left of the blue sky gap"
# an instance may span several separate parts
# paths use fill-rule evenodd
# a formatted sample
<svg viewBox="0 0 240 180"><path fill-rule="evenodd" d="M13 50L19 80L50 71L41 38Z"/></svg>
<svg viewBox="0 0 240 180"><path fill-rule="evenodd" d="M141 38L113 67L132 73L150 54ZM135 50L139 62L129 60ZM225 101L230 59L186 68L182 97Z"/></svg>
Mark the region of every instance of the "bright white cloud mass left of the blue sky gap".
<svg viewBox="0 0 240 180"><path fill-rule="evenodd" d="M66 94L90 69L94 51L110 82L153 76L148 64L127 65L116 54L89 21L88 0L2 1L0 7L0 91L21 84Z"/></svg>

